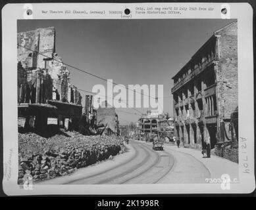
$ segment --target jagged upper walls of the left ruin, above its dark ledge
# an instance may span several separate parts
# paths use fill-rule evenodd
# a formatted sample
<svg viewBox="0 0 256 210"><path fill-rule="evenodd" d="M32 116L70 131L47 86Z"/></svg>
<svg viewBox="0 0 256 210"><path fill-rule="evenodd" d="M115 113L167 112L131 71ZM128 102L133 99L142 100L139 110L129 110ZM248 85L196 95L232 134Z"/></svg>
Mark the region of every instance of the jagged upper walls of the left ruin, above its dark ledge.
<svg viewBox="0 0 256 210"><path fill-rule="evenodd" d="M82 96L55 52L55 37L54 27L17 34L19 104L47 100L81 104Z"/></svg>

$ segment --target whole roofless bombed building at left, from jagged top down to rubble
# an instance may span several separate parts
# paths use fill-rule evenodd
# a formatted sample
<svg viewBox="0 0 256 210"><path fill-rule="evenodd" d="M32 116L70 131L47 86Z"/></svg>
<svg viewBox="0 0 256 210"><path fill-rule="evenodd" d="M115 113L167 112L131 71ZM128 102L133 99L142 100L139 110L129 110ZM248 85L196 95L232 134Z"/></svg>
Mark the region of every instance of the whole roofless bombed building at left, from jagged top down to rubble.
<svg viewBox="0 0 256 210"><path fill-rule="evenodd" d="M82 96L55 51L55 37L54 27L17 34L18 117L26 117L25 125L39 128L48 117L64 121L82 114Z"/></svg>

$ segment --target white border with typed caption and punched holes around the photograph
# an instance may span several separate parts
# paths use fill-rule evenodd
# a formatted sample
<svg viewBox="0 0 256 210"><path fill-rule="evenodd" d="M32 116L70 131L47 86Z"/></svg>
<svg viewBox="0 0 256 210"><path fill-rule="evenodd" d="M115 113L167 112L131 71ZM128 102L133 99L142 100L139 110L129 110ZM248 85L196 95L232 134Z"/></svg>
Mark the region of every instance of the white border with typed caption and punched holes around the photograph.
<svg viewBox="0 0 256 210"><path fill-rule="evenodd" d="M26 9L32 5L34 19L124 19L120 14L109 15L108 11L130 9L130 19L221 19L222 3L35 3L7 4L2 9L2 56L3 56L3 190L9 196L43 194L243 194L255 190L254 177L254 89L253 89L253 9L248 3L228 3L228 18L238 20L238 102L239 134L245 141L239 141L240 182L232 184L230 190L222 190L220 184L125 184L125 185L41 185L33 190L24 190L17 184L18 177L18 112L16 91L17 64L17 20L28 18ZM134 14L135 7L213 7L213 12L186 11L180 15ZM49 10L97 10L105 14L42 14ZM246 148L245 148L246 144ZM243 173L249 169L250 173Z"/></svg>

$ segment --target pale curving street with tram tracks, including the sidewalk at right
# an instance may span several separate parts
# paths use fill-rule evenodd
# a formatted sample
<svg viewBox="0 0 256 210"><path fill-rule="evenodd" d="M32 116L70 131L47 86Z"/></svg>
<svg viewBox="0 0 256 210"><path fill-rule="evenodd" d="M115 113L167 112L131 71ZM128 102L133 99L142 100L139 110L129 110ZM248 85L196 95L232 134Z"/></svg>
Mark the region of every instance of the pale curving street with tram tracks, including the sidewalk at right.
<svg viewBox="0 0 256 210"><path fill-rule="evenodd" d="M237 163L217 156L202 158L199 150L165 144L163 151L155 151L152 143L136 140L130 140L126 148L128 152L114 159L39 184L205 183L207 178L220 178L222 173L227 173L219 164L228 164L232 177L238 178Z"/></svg>

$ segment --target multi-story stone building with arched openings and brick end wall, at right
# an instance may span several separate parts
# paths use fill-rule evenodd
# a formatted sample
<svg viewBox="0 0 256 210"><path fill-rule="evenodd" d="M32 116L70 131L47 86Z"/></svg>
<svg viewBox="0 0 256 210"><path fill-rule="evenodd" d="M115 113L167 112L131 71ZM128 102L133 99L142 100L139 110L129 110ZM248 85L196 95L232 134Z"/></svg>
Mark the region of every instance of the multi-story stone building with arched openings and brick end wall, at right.
<svg viewBox="0 0 256 210"><path fill-rule="evenodd" d="M230 116L238 107L237 22L215 31L176 74L174 133L184 146L231 140Z"/></svg>

